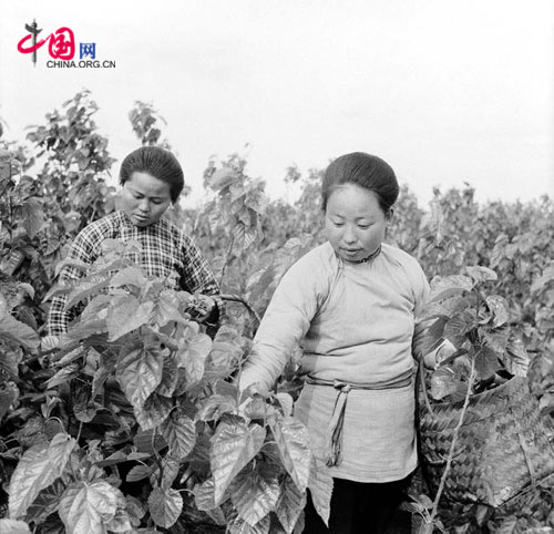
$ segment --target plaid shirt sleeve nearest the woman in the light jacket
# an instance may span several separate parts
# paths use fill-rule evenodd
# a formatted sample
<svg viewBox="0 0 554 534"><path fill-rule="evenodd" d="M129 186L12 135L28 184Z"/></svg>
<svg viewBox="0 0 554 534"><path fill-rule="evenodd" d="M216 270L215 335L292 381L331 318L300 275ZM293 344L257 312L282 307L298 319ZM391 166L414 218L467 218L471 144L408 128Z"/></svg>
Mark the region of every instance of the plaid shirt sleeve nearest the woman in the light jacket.
<svg viewBox="0 0 554 534"><path fill-rule="evenodd" d="M217 305L217 312L208 317L208 322L216 322L225 309L224 300L219 296L219 284L199 248L189 237L184 236L184 242L185 266L181 278L181 287L188 292L209 295Z"/></svg>

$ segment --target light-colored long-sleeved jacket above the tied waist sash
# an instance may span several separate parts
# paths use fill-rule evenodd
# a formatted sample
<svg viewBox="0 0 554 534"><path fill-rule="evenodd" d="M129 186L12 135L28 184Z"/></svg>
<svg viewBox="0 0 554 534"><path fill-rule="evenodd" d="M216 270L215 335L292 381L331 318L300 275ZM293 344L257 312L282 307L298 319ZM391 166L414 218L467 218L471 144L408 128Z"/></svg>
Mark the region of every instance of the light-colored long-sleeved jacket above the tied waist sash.
<svg viewBox="0 0 554 534"><path fill-rule="evenodd" d="M396 383L412 372L414 316L429 295L419 263L383 244L346 263L326 243L284 276L264 315L240 387L269 389L297 343L301 372L353 383Z"/></svg>

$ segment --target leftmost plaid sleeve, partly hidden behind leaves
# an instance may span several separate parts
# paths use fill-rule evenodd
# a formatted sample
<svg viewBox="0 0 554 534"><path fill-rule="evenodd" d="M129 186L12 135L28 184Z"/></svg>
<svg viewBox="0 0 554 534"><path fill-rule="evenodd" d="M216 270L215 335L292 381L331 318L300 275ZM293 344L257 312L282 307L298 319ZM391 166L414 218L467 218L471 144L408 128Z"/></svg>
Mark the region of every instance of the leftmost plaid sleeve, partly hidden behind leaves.
<svg viewBox="0 0 554 534"><path fill-rule="evenodd" d="M95 251L96 249L96 251ZM92 264L95 259L94 255L98 254L98 247L93 235L82 230L71 244L66 260L78 260L84 264ZM76 280L84 275L82 269L76 267L65 266L60 271L59 281L63 285L68 280ZM68 325L75 318L76 309L72 308L65 310L68 302L68 295L59 295L52 298L48 317L47 317L47 335L61 336L68 331Z"/></svg>

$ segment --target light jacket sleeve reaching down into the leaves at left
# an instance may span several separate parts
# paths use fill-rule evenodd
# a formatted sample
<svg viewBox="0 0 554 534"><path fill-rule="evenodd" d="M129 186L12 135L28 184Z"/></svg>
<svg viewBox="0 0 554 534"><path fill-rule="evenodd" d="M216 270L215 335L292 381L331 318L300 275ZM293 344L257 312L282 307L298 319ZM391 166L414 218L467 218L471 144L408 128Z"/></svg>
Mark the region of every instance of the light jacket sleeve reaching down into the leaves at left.
<svg viewBox="0 0 554 534"><path fill-rule="evenodd" d="M252 384L260 391L273 387L318 311L325 294L321 266L304 259L285 274L275 290L243 366L242 390Z"/></svg>

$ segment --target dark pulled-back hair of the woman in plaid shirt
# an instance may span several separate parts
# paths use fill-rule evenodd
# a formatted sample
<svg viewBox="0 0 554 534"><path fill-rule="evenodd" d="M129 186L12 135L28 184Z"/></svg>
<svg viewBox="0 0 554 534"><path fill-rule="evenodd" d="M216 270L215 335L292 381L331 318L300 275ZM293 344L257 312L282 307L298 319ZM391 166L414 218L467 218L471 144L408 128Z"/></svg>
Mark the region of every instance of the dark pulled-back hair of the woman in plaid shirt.
<svg viewBox="0 0 554 534"><path fill-rule="evenodd" d="M122 162L120 184L131 179L133 173L147 173L170 185L172 203L175 204L185 186L183 168L177 158L160 146L141 146Z"/></svg>

